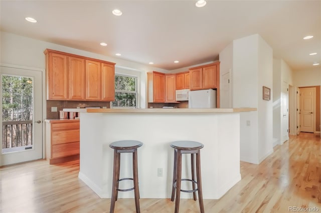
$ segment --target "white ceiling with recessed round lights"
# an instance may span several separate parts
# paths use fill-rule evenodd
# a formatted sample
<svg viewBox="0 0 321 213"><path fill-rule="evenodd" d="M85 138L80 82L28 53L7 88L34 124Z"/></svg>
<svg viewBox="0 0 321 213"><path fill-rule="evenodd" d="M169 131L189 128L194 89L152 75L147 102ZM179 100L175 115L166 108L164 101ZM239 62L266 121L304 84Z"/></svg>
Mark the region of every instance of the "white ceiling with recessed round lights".
<svg viewBox="0 0 321 213"><path fill-rule="evenodd" d="M232 40L255 33L293 70L321 60L320 0L208 0L201 8L195 2L1 0L0 24L2 31L108 56L119 52L167 70L216 60ZM123 14L113 15L115 8ZM306 35L314 37L303 40Z"/></svg>

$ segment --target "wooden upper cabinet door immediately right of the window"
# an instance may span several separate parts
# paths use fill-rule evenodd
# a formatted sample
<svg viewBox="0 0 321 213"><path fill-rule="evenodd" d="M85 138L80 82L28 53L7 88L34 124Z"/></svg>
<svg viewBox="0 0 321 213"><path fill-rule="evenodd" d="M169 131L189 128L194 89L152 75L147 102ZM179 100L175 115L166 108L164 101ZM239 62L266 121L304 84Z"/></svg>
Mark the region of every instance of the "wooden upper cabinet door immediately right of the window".
<svg viewBox="0 0 321 213"><path fill-rule="evenodd" d="M165 102L165 74L153 72L153 102Z"/></svg>

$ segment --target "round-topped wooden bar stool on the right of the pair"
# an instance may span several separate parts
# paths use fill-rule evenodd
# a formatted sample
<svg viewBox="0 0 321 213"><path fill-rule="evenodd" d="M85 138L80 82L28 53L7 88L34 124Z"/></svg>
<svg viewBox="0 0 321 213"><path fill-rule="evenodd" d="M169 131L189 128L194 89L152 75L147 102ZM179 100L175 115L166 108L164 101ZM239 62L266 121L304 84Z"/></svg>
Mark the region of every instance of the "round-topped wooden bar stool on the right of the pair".
<svg viewBox="0 0 321 213"><path fill-rule="evenodd" d="M201 178L201 157L200 157L200 149L203 148L204 145L200 142L191 141L191 140L178 140L178 141L172 142L171 146L175 148L173 187L172 187L172 198L171 198L171 200L174 201L175 190L177 189L175 213L179 212L181 191L193 192L194 200L196 200L196 191L198 191L200 210L201 210L201 213L204 213L204 204L203 204L203 195L202 195L202 178ZM182 154L191 154L192 179L182 179ZM195 180L195 163L194 163L195 154L196 154L197 181ZM191 181L193 185L193 190L181 189L182 180ZM197 188L195 188L195 184L197 184Z"/></svg>

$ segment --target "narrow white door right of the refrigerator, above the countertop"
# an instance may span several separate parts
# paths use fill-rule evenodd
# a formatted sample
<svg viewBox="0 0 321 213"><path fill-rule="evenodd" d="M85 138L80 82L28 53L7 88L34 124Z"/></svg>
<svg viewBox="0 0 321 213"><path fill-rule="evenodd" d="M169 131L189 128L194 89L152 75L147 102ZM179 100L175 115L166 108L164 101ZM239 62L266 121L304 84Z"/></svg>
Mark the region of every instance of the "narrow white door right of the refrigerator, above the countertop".
<svg viewBox="0 0 321 213"><path fill-rule="evenodd" d="M220 108L232 107L230 90L230 72L227 72L220 79Z"/></svg>

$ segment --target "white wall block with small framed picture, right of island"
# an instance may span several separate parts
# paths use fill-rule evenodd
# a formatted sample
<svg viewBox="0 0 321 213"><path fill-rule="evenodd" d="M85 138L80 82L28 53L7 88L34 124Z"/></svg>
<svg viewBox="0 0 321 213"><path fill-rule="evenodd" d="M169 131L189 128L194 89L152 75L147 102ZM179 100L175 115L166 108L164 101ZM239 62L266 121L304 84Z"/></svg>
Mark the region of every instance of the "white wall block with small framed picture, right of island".
<svg viewBox="0 0 321 213"><path fill-rule="evenodd" d="M272 48L258 35L233 41L233 107L256 107L241 113L241 160L260 163L273 152L271 100L262 99L262 86L272 89ZM271 90L272 91L272 90Z"/></svg>

